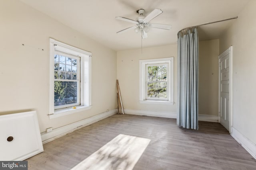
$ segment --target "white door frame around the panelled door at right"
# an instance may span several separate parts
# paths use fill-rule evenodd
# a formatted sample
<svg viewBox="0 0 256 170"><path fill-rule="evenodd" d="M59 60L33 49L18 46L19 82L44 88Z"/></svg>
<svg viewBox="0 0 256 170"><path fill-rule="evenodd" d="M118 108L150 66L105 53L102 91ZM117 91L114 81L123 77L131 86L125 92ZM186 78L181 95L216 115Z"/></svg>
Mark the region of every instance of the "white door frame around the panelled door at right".
<svg viewBox="0 0 256 170"><path fill-rule="evenodd" d="M229 133L232 133L232 125L233 125L233 46L231 45L226 51L224 51L222 54L219 55L219 102L218 102L218 117L219 117L219 123L220 123L220 59L224 56L229 54Z"/></svg>

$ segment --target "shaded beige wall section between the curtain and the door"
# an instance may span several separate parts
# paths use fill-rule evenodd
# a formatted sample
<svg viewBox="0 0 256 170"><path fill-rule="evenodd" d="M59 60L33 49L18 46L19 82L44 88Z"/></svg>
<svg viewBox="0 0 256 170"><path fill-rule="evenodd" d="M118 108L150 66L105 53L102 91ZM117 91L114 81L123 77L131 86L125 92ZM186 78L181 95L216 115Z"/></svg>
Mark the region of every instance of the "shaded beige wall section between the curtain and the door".
<svg viewBox="0 0 256 170"><path fill-rule="evenodd" d="M219 40L199 42L198 114L218 116Z"/></svg>

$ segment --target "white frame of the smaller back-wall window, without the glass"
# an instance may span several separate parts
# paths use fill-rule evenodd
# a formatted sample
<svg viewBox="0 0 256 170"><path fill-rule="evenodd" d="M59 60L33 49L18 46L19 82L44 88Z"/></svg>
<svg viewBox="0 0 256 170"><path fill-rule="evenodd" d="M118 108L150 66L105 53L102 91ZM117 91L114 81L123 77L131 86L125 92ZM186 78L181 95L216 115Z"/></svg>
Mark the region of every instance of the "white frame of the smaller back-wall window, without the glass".
<svg viewBox="0 0 256 170"><path fill-rule="evenodd" d="M162 58L162 59L148 59L148 60L140 60L140 103L143 104L174 104L174 57L168 57L168 58ZM167 100L163 99L147 99L146 93L147 93L147 84L146 84L146 78L147 78L147 65L157 65L157 64L168 64L167 69Z"/></svg>

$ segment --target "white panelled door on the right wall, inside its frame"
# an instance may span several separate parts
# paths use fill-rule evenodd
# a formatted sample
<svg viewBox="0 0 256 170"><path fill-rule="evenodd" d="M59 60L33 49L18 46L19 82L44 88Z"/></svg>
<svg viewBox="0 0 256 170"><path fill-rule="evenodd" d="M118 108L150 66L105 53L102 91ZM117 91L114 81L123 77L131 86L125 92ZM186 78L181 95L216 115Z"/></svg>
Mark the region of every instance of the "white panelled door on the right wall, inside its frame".
<svg viewBox="0 0 256 170"><path fill-rule="evenodd" d="M230 131L230 50L219 56L219 118Z"/></svg>

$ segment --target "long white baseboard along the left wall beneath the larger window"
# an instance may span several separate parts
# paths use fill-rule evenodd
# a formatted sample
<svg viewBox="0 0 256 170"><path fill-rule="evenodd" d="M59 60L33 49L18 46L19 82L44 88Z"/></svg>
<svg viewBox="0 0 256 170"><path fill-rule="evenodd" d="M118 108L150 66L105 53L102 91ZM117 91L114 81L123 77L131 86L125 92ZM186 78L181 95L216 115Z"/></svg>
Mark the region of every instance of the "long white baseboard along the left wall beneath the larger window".
<svg viewBox="0 0 256 170"><path fill-rule="evenodd" d="M110 117L116 113L117 113L117 109L112 109L110 111L105 111L98 115L88 117L86 119L83 119L83 120L62 126L62 127L58 127L56 129L53 129L51 132L48 132L48 133L43 132L43 133L41 133L42 143L44 144L44 143L53 141L54 139L57 139L57 138L62 137L68 133L71 133L73 131L81 129L82 127L91 125L92 123L95 123L97 121L100 121L102 119Z"/></svg>

